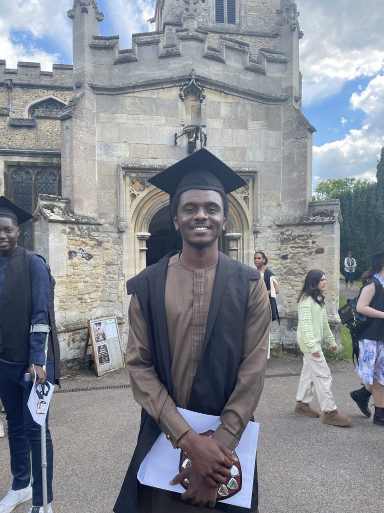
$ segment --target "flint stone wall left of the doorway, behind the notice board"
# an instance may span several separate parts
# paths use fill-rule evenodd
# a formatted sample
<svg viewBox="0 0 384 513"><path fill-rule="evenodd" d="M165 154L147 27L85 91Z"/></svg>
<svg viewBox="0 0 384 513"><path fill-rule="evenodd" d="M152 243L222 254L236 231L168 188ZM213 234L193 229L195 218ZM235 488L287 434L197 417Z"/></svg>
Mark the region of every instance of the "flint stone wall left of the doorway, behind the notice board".
<svg viewBox="0 0 384 513"><path fill-rule="evenodd" d="M62 360L81 357L90 319L122 318L124 277L121 274L122 240L116 228L100 220L88 224L57 219L61 199L42 196L35 223L35 248L44 256L56 280L55 312ZM69 203L69 201L68 201ZM48 204L48 208L47 208ZM39 199L41 205L41 196ZM84 222L85 221L85 222ZM124 341L124 347L126 340Z"/></svg>

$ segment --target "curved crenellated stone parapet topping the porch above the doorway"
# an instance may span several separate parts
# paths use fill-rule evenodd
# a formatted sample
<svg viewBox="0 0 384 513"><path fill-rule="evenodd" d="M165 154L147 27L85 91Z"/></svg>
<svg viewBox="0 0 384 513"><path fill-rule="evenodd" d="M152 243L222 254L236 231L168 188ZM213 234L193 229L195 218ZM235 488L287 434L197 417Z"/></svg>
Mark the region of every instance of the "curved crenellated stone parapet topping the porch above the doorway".
<svg viewBox="0 0 384 513"><path fill-rule="evenodd" d="M205 84L217 82L242 94L251 91L263 101L270 98L279 103L289 98L281 94L288 57L274 45L261 47L251 56L250 43L233 34L220 34L212 46L206 30L167 26L133 34L129 49L120 50L115 35L93 36L89 47L94 63L90 86L95 92L130 92L145 83L167 87L176 77L188 76L193 64Z"/></svg>

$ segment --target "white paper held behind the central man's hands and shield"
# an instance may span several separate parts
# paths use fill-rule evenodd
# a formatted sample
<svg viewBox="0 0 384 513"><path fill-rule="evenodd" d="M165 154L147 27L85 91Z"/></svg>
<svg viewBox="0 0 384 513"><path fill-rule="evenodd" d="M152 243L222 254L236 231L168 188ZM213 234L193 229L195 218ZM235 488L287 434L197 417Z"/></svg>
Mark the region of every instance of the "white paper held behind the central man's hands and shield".
<svg viewBox="0 0 384 513"><path fill-rule="evenodd" d="M203 433L208 429L216 430L220 425L220 418L213 415L204 415L195 411L178 408L181 415L197 433ZM251 494L253 486L254 461L259 436L259 424L249 422L243 436L236 447L243 481L242 488L229 499L220 502L249 508L251 506ZM160 433L156 442L144 458L137 472L137 479L141 484L175 491L182 494L185 489L181 484L171 486L169 481L179 473L180 449L174 449L166 439L164 433Z"/></svg>

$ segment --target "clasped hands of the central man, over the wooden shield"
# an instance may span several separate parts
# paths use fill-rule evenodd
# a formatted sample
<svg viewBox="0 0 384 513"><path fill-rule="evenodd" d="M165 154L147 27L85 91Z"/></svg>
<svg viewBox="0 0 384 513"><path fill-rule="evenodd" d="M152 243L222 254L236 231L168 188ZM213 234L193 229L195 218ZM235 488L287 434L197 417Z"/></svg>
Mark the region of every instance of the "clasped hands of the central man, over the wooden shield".
<svg viewBox="0 0 384 513"><path fill-rule="evenodd" d="M191 466L182 470L170 481L171 485L188 479L188 489L181 499L190 499L191 503L214 508L217 492L230 476L230 468L238 459L214 438L201 437L192 429L179 439L178 446L188 455Z"/></svg>

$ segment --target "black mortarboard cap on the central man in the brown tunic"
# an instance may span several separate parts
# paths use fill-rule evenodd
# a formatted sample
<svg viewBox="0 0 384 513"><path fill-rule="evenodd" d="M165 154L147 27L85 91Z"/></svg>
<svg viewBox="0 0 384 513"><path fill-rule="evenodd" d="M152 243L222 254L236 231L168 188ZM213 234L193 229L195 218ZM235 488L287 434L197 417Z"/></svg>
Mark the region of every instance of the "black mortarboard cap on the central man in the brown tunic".
<svg viewBox="0 0 384 513"><path fill-rule="evenodd" d="M148 180L171 198L190 189L214 190L228 194L246 185L233 169L205 148L167 167Z"/></svg>

